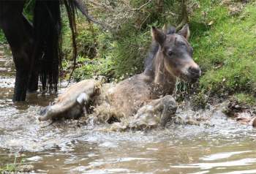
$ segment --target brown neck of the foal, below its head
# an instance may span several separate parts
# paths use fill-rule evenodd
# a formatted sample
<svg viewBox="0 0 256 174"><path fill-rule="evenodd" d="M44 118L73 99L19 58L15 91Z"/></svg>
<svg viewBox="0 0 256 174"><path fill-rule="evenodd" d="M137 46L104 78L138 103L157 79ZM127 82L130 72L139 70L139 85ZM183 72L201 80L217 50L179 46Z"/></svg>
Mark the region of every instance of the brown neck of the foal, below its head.
<svg viewBox="0 0 256 174"><path fill-rule="evenodd" d="M176 77L166 69L164 55L161 48L159 48L154 58L154 86L157 87L157 93L162 95L173 94L176 85Z"/></svg>

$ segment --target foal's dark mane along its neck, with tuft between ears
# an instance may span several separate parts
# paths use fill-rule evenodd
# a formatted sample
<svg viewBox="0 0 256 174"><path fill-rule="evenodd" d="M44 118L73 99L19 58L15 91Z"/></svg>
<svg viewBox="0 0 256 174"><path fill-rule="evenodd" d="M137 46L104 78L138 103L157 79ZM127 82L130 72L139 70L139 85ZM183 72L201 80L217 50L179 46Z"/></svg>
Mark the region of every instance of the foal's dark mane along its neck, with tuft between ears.
<svg viewBox="0 0 256 174"><path fill-rule="evenodd" d="M168 26L166 34L175 34L176 28L174 26ZM148 51L147 57L145 59L144 64L144 73L149 76L154 76L154 58L157 55L159 50L159 43L157 43L154 39L151 42L151 48Z"/></svg>

